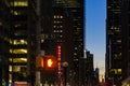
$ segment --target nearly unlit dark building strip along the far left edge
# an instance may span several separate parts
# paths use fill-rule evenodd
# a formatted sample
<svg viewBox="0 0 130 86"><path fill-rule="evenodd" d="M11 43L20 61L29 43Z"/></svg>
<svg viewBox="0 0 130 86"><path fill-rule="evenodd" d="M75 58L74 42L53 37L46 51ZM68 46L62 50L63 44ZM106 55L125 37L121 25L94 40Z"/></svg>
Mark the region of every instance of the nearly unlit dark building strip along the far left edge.
<svg viewBox="0 0 130 86"><path fill-rule="evenodd" d="M4 0L0 0L0 86L2 81L8 83L9 48L10 48L10 8Z"/></svg>

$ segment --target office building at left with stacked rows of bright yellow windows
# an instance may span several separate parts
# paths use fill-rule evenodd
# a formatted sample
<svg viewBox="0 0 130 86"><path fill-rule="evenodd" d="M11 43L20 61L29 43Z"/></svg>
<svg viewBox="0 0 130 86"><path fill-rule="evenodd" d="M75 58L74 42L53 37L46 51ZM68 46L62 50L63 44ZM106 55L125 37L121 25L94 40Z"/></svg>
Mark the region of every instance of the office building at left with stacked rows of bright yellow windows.
<svg viewBox="0 0 130 86"><path fill-rule="evenodd" d="M10 8L9 82L35 82L36 1L5 0Z"/></svg>

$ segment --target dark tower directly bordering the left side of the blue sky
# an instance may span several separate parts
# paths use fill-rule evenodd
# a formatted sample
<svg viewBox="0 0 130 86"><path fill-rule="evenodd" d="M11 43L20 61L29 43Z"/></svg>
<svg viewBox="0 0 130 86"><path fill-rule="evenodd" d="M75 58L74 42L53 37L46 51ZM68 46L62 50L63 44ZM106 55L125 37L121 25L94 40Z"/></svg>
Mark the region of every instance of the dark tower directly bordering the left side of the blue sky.
<svg viewBox="0 0 130 86"><path fill-rule="evenodd" d="M53 5L54 13L56 13L57 18L60 18L58 15L61 16L62 23L56 24L58 26L54 30L57 31L62 39L62 62L67 61L69 64L67 81L73 85L74 82L76 85L81 85L80 59L83 58L83 0L55 0L55 3ZM62 25L60 26L60 24Z"/></svg>

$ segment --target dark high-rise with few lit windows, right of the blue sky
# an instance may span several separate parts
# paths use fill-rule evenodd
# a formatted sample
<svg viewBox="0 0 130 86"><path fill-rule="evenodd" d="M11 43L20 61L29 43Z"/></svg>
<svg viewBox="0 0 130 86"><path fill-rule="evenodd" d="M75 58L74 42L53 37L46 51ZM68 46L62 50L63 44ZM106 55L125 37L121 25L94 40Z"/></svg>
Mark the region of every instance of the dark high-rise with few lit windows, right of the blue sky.
<svg viewBox="0 0 130 86"><path fill-rule="evenodd" d="M106 81L120 86L129 76L129 0L107 0Z"/></svg>

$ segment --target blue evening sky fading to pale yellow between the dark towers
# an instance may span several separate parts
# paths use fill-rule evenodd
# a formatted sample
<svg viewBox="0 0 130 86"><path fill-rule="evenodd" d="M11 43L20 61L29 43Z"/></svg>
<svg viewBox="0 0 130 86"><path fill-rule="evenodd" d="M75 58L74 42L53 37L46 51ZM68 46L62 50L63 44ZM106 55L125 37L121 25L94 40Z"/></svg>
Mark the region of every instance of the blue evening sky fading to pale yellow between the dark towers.
<svg viewBox="0 0 130 86"><path fill-rule="evenodd" d="M86 0L86 48L94 55L94 68L104 71L106 0Z"/></svg>

